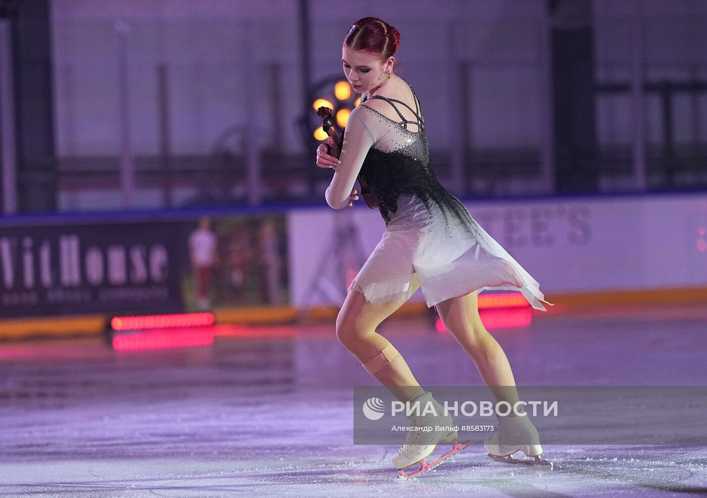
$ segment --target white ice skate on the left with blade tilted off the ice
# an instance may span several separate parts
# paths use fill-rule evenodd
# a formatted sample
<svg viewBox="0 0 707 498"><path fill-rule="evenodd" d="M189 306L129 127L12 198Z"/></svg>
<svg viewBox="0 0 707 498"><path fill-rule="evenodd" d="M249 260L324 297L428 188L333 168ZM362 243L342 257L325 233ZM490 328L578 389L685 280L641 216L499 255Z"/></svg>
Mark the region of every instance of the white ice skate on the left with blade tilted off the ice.
<svg viewBox="0 0 707 498"><path fill-rule="evenodd" d="M452 458L460 451L472 444L472 441L457 443L457 431L454 430L454 421L450 415L445 415L444 407L432 398L431 393L424 393L418 396L411 403L420 402L420 414L424 413L425 406L431 402L435 407L436 415L411 415L409 417L413 427L431 427L430 431L422 429L409 431L405 438L405 443L400 447L393 457L393 465L398 469L398 477L410 479L422 475L432 470L440 463ZM439 427L441 430L436 430ZM439 443L451 443L452 449L444 453L439 458L427 463L425 458L430 456ZM410 473L405 473L404 469L420 463L420 468Z"/></svg>

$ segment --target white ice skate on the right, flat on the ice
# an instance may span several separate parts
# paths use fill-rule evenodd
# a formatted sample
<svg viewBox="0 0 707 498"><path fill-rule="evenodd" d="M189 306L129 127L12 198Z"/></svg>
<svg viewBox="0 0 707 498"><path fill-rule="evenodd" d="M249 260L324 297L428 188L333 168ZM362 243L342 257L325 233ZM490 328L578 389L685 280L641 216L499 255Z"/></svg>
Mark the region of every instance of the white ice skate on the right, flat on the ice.
<svg viewBox="0 0 707 498"><path fill-rule="evenodd" d="M542 454L540 436L527 415L498 417L498 432L484 441L484 448L489 453L489 457L497 462L549 465L552 468L551 461L540 458ZM532 460L514 458L513 453L519 450L527 456L532 456Z"/></svg>

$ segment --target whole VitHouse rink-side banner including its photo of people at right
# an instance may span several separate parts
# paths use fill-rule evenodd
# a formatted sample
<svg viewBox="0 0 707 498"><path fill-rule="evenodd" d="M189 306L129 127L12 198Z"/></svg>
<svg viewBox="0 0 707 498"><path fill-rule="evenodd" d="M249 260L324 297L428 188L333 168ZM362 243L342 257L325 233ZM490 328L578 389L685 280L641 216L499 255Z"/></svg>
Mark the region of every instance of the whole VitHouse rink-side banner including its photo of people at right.
<svg viewBox="0 0 707 498"><path fill-rule="evenodd" d="M288 301L283 214L0 225L0 319Z"/></svg>

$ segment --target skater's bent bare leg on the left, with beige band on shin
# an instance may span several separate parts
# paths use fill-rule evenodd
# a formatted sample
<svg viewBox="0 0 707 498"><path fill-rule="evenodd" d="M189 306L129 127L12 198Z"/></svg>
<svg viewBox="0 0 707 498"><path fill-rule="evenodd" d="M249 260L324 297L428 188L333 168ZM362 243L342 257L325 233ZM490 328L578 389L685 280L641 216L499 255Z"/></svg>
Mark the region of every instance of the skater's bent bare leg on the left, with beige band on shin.
<svg viewBox="0 0 707 498"><path fill-rule="evenodd" d="M419 287L413 275L413 292ZM349 291L337 316L337 337L346 349L366 366L366 370L400 401L407 401L423 394L407 362L390 341L375 329L380 323L405 303L406 299L373 304L356 290ZM385 352L384 352L385 350ZM390 354L393 352L393 354ZM387 355L387 357L386 357ZM387 358L392 358L390 361Z"/></svg>

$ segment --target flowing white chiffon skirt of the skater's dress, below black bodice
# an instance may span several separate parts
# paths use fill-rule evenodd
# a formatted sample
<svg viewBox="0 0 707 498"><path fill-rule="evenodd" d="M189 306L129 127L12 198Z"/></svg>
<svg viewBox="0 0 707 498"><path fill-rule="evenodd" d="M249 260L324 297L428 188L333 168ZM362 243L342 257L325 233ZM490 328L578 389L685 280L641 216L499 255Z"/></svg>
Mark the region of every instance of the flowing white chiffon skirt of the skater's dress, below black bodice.
<svg viewBox="0 0 707 498"><path fill-rule="evenodd" d="M414 195L398 198L397 212L349 290L371 303L408 299L416 274L430 308L477 290L519 291L531 306L547 311L539 284L472 219L471 232L450 208ZM446 217L445 217L446 214Z"/></svg>

